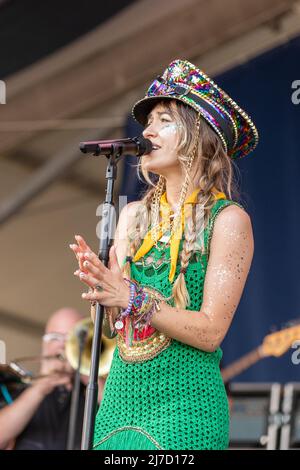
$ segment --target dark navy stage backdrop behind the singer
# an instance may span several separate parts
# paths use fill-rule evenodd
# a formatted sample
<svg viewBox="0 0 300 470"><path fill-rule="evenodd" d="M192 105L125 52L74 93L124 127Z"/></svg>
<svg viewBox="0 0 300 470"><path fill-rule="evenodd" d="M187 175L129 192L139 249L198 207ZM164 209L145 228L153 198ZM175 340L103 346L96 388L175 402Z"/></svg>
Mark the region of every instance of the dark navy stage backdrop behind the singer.
<svg viewBox="0 0 300 470"><path fill-rule="evenodd" d="M215 77L250 114L260 132L257 150L237 162L241 202L253 224L255 254L231 329L222 343L224 366L258 347L267 334L300 319L299 57L300 37ZM126 134L134 136L140 131L129 117ZM122 194L136 200L141 184L132 162L136 159L125 162ZM280 358L262 359L234 381L299 381L300 364L293 364L293 353L299 360L300 353L291 348Z"/></svg>

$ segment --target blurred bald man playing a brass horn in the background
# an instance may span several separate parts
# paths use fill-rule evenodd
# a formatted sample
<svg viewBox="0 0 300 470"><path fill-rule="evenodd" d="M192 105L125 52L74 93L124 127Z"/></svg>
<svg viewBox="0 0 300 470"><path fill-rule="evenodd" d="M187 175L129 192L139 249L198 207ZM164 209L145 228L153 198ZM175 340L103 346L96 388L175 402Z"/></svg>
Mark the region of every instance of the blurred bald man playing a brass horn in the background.
<svg viewBox="0 0 300 470"><path fill-rule="evenodd" d="M59 356L64 354L68 332L83 316L62 308L47 322L42 343L41 375L26 387L10 405L0 409L0 449L66 449L70 415L73 369ZM57 357L55 357L57 356ZM75 448L80 448L84 410L82 384Z"/></svg>

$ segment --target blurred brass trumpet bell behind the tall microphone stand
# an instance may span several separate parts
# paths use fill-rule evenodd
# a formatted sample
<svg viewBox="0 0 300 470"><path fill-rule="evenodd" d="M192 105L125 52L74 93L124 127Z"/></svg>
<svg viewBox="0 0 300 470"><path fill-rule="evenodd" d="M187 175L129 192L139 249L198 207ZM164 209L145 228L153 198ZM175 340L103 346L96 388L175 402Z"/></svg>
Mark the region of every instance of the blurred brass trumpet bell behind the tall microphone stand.
<svg viewBox="0 0 300 470"><path fill-rule="evenodd" d="M91 366L91 349L94 335L94 325L90 317L80 320L70 331L65 344L65 355L73 369L77 369L79 359L78 338L82 331L86 332L86 340L81 358L80 373L89 376ZM116 338L109 339L102 335L100 367L98 373L99 377L106 377L108 375L115 348Z"/></svg>

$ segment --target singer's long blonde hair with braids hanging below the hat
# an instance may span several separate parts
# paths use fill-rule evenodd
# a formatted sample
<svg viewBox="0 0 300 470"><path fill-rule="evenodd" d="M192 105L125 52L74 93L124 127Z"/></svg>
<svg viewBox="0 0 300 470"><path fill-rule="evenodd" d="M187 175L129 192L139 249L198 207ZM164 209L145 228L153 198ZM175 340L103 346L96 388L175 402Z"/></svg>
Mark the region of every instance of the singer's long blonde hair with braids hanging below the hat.
<svg viewBox="0 0 300 470"><path fill-rule="evenodd" d="M184 273L192 254L196 251L196 239L199 240L203 235L211 208L215 203L212 190L215 188L223 192L227 199L238 198L239 194L234 178L233 160L226 154L220 138L209 124L193 108L178 100L162 100L158 104L162 104L178 124L178 160L185 174L181 199L185 200L190 187L201 188L197 204L192 205L192 215L185 221L185 238L180 254L181 272L172 287L171 297L174 297L175 306L184 309L190 303ZM128 253L131 257L135 255L148 231L153 200L159 201L166 190L165 178L160 175L157 180L157 175L145 170L143 158L136 165L138 178L142 180L140 176L142 173L149 187L142 195L141 210L136 213L134 228L129 236ZM191 167L191 162L192 178L190 171L187 170ZM202 210L196 210L197 207L201 207ZM203 250L202 244L201 251ZM129 276L129 263L123 266L123 273Z"/></svg>

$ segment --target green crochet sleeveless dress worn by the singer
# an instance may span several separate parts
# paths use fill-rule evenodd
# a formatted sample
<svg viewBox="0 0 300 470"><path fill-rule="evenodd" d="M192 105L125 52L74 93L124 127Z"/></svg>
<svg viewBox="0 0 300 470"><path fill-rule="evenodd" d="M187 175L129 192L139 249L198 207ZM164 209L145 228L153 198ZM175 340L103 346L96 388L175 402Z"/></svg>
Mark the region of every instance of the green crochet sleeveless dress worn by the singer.
<svg viewBox="0 0 300 470"><path fill-rule="evenodd" d="M190 259L185 274L191 298L187 310L200 310L214 221L229 204L240 206L225 199L215 202L204 232L205 253L195 252ZM131 277L168 297L172 289L166 262L170 248L164 249L163 242L158 245L161 251L153 246L144 258L131 264ZM162 256L166 258L160 264ZM148 257L151 262L147 265ZM175 279L179 270L178 261ZM229 411L221 358L220 348L205 352L173 339L154 358L130 363L120 357L116 347L96 416L94 449L226 449Z"/></svg>

